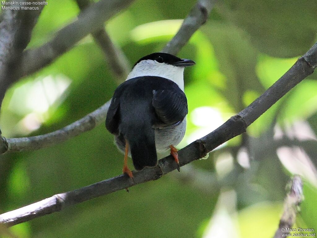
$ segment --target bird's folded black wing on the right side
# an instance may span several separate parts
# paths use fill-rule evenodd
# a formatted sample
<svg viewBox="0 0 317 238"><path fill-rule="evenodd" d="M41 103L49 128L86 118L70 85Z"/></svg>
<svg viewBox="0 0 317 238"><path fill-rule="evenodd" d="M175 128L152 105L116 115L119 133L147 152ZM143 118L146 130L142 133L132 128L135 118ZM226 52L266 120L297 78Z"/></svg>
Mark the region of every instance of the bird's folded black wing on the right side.
<svg viewBox="0 0 317 238"><path fill-rule="evenodd" d="M177 84L170 89L154 90L152 105L159 119L167 125L183 121L188 113L187 98Z"/></svg>

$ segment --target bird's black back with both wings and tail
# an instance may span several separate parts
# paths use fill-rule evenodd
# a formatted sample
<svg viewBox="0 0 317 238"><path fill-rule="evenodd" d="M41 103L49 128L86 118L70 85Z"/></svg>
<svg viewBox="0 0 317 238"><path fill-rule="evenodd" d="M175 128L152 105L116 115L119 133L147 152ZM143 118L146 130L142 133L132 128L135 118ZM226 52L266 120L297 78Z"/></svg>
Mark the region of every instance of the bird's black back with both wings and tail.
<svg viewBox="0 0 317 238"><path fill-rule="evenodd" d="M125 138L138 170L157 163L155 125L182 121L188 113L184 92L173 81L156 76L129 79L115 90L106 128Z"/></svg>

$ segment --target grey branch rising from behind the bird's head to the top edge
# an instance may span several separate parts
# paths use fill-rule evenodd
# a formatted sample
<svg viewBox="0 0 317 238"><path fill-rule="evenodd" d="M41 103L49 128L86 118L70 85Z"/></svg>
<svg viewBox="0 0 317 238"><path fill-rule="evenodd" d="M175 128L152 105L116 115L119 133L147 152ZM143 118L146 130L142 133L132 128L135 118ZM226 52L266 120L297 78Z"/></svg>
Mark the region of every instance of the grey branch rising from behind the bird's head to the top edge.
<svg viewBox="0 0 317 238"><path fill-rule="evenodd" d="M215 0L200 0L184 19L177 34L163 48L162 52L176 55L191 36L207 21Z"/></svg>

